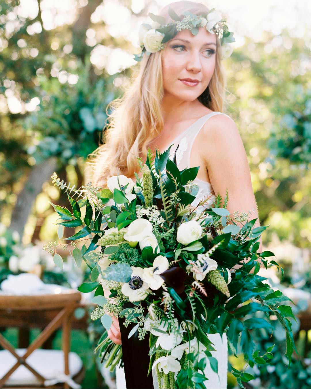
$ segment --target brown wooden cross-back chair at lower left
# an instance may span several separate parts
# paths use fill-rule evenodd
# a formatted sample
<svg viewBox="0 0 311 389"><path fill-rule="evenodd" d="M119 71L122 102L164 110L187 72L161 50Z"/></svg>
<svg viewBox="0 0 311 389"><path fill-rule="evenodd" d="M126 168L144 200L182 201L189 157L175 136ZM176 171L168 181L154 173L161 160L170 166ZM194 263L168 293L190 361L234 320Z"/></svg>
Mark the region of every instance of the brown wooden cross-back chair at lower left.
<svg viewBox="0 0 311 389"><path fill-rule="evenodd" d="M25 350L15 350L14 347L5 339L5 337L0 334L0 345L4 349L3 351L0 351L0 371L3 370L1 369L1 366L3 367L4 365L4 363L1 363L1 353L6 353L2 356L4 358L7 358L8 356L14 356L16 358L16 363L12 367L10 367L8 371L4 372L3 377L1 377L3 372L0 373L0 387L70 387L68 383L66 383L66 381L70 382L70 380L68 380L68 376L70 376L71 374L71 366L69 364L70 357L75 357L76 359L78 358L80 360L77 354L70 353L71 318L73 310L79 304L80 299L81 294L71 289L69 289L68 291L63 291L59 294L44 294L33 296L0 295L0 317L2 317L2 315L5 316L10 313L11 315L14 315L16 317L20 316L21 320L23 320L25 318L25 314L27 314L27 311L32 313L35 311L37 313L37 319L38 321L40 321L40 312L43 313L45 311L49 311L49 313L52 315L51 322L49 322L47 326L45 326L40 335L38 335L38 337ZM31 321L35 321L36 318L32 316L31 319ZM27 324L31 323L28 322ZM59 358L59 353L61 353L61 351L38 349L54 333L54 331L56 331L56 329L60 327L62 327L63 329L62 354L64 358L64 373L60 374L63 377L44 377L38 371L38 368L36 366L30 366L30 364L27 362L27 358L32 354L33 359L36 359L34 354L37 354L37 360L39 357L40 362L43 364L44 356L47 356L46 353L50 353L50 360L51 352L58 353L57 355ZM84 369L81 360L80 364L81 366L79 372L72 377L74 381L82 381ZM23 365L33 374L34 377L31 376L34 378L33 382L25 382L24 385L20 382L18 383L18 385L14 384L14 382L11 382L11 385L10 376L21 365ZM53 365L53 363L51 365ZM53 366L49 367L51 368L51 370L53 369ZM52 378L55 378L55 380L53 380ZM57 384L57 382L64 381L65 384Z"/></svg>

